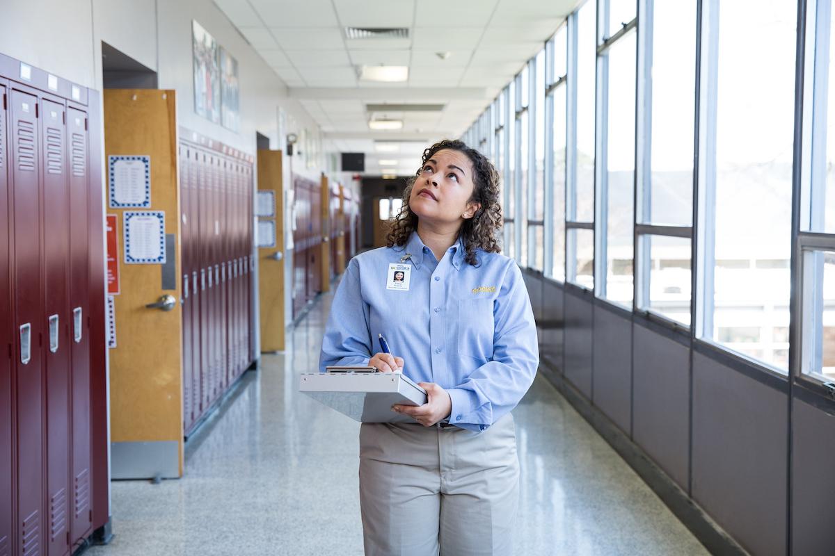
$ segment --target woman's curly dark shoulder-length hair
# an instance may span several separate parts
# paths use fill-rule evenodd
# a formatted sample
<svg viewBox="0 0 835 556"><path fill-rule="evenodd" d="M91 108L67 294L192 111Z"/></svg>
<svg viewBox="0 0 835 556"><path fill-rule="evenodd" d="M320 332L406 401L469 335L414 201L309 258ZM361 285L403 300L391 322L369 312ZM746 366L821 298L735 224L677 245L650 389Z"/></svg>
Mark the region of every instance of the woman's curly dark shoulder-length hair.
<svg viewBox="0 0 835 556"><path fill-rule="evenodd" d="M467 263L473 266L478 265L476 250L483 249L487 253L501 253L498 244L498 232L502 229L502 207L498 203L498 188L500 177L496 168L493 167L487 157L474 148L469 148L463 141L458 139L444 139L435 143L432 147L423 151L423 163L413 178L409 178L406 190L403 191L403 204L400 213L392 219L391 228L386 236L387 247L406 245L412 232L417 230L417 214L412 213L409 208L409 197L412 194L417 178L420 177L423 168L429 158L445 148L459 153L466 154L473 163L473 197L470 199L481 204L481 208L473 214L473 218L464 220L458 237L463 238L464 249L467 255L464 258Z"/></svg>

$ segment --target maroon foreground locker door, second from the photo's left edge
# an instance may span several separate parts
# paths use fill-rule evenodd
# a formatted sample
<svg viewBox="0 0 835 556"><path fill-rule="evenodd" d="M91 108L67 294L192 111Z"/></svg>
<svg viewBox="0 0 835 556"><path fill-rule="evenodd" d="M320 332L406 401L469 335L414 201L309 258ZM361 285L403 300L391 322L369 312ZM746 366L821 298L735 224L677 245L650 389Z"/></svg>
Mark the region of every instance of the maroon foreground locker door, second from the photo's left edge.
<svg viewBox="0 0 835 556"><path fill-rule="evenodd" d="M13 214L40 215L38 98L12 91ZM14 218L13 345L18 408L18 552L43 553L43 305L40 218Z"/></svg>

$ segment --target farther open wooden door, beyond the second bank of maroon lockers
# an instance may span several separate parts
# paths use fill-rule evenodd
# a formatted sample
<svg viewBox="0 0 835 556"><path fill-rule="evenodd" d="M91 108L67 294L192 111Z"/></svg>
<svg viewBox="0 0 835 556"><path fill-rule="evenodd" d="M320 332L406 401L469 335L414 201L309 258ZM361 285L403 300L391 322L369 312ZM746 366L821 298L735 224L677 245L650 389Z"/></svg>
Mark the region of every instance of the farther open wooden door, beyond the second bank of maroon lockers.
<svg viewBox="0 0 835 556"><path fill-rule="evenodd" d="M258 249L258 291L261 298L261 351L284 350L284 188L281 183L281 151L258 151L258 190L271 191L276 199L272 221L276 244Z"/></svg>

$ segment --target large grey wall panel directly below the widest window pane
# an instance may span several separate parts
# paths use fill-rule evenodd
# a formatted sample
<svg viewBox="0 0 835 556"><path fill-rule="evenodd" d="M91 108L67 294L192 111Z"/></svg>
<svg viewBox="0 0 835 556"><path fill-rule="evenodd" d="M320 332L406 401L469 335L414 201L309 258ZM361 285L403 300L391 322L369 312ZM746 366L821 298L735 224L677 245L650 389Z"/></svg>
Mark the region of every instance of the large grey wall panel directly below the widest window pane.
<svg viewBox="0 0 835 556"><path fill-rule="evenodd" d="M787 395L693 353L692 497L747 550L786 553Z"/></svg>

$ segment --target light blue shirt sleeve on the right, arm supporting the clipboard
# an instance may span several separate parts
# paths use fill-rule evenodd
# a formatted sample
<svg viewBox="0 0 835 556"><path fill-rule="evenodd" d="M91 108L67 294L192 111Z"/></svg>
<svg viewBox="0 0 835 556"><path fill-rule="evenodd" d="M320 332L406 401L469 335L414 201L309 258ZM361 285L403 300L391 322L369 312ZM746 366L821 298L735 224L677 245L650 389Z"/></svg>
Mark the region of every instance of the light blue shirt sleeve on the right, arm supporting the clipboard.
<svg viewBox="0 0 835 556"><path fill-rule="evenodd" d="M519 267L509 265L493 308L493 358L455 388L449 422L485 430L515 408L534 383L539 345L528 290Z"/></svg>

